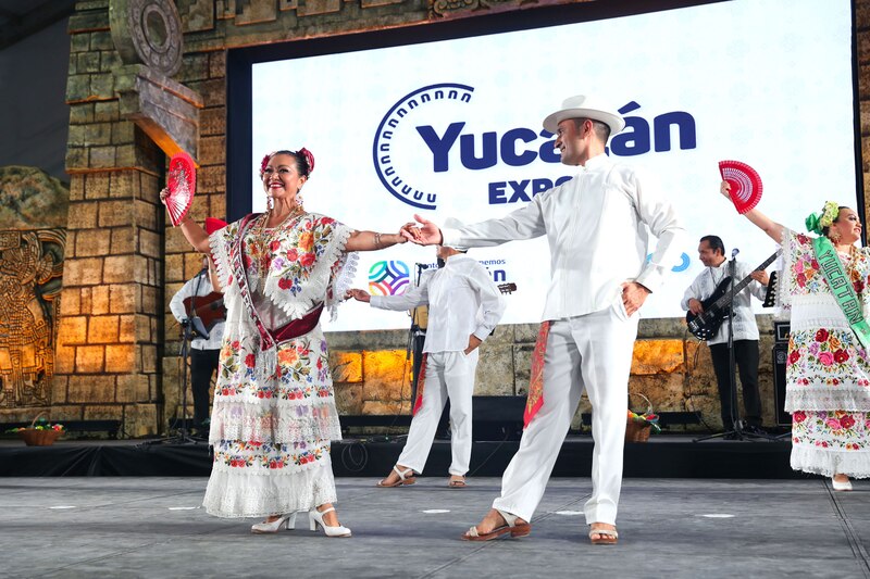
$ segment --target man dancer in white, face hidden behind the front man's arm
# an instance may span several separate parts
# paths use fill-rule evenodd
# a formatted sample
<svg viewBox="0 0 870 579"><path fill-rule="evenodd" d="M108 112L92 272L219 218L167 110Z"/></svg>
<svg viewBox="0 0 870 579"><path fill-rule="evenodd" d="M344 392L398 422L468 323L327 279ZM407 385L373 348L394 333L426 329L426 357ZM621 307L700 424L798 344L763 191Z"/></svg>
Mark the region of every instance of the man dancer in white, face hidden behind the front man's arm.
<svg viewBox="0 0 870 579"><path fill-rule="evenodd" d="M408 441L396 466L378 487L413 484L415 475L423 473L447 397L450 397L452 451L448 486L465 486L477 347L501 319L505 300L486 269L460 250L464 248L439 246L437 256L445 265L424 272L420 285L402 295L370 295L365 290L348 290L349 297L382 310L403 311L428 304L422 404L411 420Z"/></svg>

